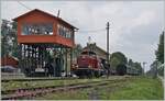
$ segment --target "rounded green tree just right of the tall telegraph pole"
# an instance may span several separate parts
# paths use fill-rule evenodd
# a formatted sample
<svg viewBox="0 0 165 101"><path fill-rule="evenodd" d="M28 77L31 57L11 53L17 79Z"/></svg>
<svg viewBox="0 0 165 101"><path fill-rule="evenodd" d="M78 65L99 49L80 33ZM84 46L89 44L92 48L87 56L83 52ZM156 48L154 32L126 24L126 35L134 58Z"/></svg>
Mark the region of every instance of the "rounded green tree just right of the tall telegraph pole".
<svg viewBox="0 0 165 101"><path fill-rule="evenodd" d="M120 52L112 53L112 55L110 56L110 64L112 68L116 68L120 64L127 65L127 57Z"/></svg>

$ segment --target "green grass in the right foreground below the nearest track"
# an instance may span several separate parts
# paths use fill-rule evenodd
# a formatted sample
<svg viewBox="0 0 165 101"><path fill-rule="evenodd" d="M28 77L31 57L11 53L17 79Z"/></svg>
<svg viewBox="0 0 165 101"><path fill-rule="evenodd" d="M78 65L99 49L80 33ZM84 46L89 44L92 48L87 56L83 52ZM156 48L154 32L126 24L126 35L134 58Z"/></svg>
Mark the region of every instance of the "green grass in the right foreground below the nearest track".
<svg viewBox="0 0 165 101"><path fill-rule="evenodd" d="M101 100L163 100L163 86L158 79L136 77L122 82L90 89L54 92L37 100L88 100L92 94Z"/></svg>

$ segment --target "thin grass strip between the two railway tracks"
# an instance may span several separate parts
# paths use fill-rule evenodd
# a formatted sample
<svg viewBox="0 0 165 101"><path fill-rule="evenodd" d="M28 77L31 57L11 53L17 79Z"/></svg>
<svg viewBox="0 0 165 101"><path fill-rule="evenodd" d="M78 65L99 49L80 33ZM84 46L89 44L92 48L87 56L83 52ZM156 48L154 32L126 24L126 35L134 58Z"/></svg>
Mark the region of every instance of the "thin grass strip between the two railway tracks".
<svg viewBox="0 0 165 101"><path fill-rule="evenodd" d="M70 79L70 80L40 80L40 81L9 81L1 82L1 90L13 90L19 88L35 88L48 86L66 86L81 82L100 81L102 79Z"/></svg>

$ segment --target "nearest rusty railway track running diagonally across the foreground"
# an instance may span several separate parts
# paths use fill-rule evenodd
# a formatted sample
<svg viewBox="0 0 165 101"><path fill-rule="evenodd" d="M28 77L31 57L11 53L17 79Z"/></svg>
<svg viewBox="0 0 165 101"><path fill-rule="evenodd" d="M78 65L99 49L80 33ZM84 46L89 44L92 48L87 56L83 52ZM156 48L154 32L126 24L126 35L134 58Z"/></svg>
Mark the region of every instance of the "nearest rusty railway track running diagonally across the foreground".
<svg viewBox="0 0 165 101"><path fill-rule="evenodd" d="M56 92L56 91L66 91L66 90L76 90L81 88L92 88L95 86L106 86L108 83L116 83L119 81L125 81L127 79L114 79L114 80L102 80L102 81L92 81L84 82L76 85L66 85L66 86L51 86L51 87L40 87L40 88L28 88L28 89L16 89L2 92L2 100L16 100L16 99L30 99L40 94Z"/></svg>

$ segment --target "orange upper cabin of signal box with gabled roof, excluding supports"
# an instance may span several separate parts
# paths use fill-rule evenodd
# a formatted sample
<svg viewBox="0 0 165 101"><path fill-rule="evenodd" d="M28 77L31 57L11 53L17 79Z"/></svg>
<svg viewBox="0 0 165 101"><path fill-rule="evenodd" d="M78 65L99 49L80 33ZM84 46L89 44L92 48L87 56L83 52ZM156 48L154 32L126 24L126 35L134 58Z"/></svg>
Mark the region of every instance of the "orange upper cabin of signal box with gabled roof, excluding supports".
<svg viewBox="0 0 165 101"><path fill-rule="evenodd" d="M75 26L41 10L32 10L15 19L19 43L54 43L74 46Z"/></svg>

